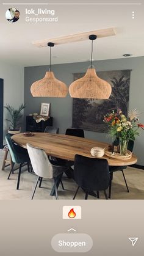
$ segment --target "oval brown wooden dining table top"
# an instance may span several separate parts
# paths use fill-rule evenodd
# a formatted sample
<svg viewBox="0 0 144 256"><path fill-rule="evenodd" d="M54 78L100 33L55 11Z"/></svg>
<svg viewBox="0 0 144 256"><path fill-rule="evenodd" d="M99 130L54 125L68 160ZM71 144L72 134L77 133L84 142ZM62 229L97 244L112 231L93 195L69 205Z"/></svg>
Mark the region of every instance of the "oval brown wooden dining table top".
<svg viewBox="0 0 144 256"><path fill-rule="evenodd" d="M104 148L108 145L91 139L51 133L34 133L32 137L26 137L23 133L19 133L13 135L12 139L21 147L26 148L26 144L29 143L34 147L42 148L48 155L72 161L76 154L93 158L90 154L92 147ZM134 154L131 159L126 160L113 159L106 155L103 158L107 159L110 166L129 166L137 163L137 157Z"/></svg>

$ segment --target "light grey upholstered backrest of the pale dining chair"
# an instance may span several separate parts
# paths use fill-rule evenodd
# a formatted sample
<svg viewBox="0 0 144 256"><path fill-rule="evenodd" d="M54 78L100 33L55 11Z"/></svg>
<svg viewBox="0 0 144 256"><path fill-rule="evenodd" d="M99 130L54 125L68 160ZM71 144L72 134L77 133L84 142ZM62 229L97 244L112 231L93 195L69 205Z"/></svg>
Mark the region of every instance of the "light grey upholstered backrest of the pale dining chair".
<svg viewBox="0 0 144 256"><path fill-rule="evenodd" d="M35 174L41 178L53 178L52 164L45 151L30 144L26 144L26 146Z"/></svg>

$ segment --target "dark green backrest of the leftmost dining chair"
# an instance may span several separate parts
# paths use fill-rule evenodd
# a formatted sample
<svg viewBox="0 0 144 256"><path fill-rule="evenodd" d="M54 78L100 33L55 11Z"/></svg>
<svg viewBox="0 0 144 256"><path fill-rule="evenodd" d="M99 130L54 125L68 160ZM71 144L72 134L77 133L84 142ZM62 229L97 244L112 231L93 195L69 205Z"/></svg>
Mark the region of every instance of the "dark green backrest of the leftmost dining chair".
<svg viewBox="0 0 144 256"><path fill-rule="evenodd" d="M16 145L13 143L9 133L5 135L5 141L7 142L7 145L9 147L10 156L12 158L13 163L22 163L23 161L21 160L20 154L16 152Z"/></svg>

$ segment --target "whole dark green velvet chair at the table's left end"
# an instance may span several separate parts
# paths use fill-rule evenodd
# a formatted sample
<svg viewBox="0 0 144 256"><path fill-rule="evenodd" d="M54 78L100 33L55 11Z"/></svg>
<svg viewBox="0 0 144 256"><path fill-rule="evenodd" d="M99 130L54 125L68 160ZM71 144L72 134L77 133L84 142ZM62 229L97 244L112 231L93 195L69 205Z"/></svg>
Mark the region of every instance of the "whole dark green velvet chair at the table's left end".
<svg viewBox="0 0 144 256"><path fill-rule="evenodd" d="M20 177L21 177L21 167L27 163L27 169L29 172L29 163L31 163L27 150L13 143L9 134L5 135L5 140L9 147L10 156L12 157L12 169L10 170L8 180L10 175L13 173L14 164L20 164L19 172L18 172L18 181L16 189L19 189L20 186Z"/></svg>

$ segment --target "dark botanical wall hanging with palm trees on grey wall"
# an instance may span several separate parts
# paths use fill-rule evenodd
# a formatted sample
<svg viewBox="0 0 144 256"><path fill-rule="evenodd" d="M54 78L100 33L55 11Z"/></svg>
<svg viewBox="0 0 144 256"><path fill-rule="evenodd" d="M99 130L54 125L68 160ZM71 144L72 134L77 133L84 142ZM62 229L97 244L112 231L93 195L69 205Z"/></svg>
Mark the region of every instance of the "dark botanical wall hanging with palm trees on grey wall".
<svg viewBox="0 0 144 256"><path fill-rule="evenodd" d="M84 76L84 73L74 73L74 80ZM113 70L97 72L112 86L112 93L108 100L73 98L73 128L107 133L107 126L103 122L104 115L118 108L128 114L129 81L131 70Z"/></svg>

